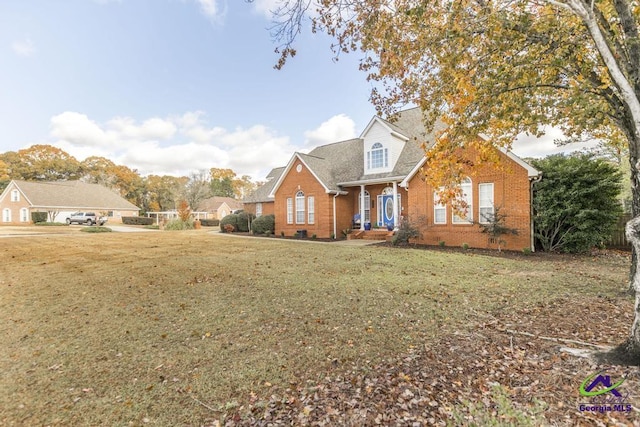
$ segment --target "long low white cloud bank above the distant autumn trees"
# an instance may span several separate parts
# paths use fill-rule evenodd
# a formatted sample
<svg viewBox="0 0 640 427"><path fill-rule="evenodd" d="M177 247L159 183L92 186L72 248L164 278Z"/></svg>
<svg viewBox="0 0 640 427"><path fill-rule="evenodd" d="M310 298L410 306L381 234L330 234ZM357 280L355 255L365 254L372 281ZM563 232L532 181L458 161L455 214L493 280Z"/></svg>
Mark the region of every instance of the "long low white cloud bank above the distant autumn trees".
<svg viewBox="0 0 640 427"><path fill-rule="evenodd" d="M137 123L115 117L104 124L85 114L67 111L51 118L53 145L78 160L106 157L136 169L141 175L188 175L212 167L263 179L284 165L296 150L286 136L255 125L227 130L207 124L204 113L187 112Z"/></svg>

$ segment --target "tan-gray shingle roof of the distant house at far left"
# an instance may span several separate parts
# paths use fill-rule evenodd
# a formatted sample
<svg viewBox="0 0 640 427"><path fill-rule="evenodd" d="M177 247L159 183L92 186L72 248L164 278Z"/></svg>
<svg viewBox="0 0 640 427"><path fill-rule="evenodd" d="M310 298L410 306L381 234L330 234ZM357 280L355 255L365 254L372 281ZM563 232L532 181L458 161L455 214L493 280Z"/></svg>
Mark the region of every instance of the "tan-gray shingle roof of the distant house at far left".
<svg viewBox="0 0 640 427"><path fill-rule="evenodd" d="M13 181L34 207L140 210L134 204L99 184L81 181Z"/></svg>

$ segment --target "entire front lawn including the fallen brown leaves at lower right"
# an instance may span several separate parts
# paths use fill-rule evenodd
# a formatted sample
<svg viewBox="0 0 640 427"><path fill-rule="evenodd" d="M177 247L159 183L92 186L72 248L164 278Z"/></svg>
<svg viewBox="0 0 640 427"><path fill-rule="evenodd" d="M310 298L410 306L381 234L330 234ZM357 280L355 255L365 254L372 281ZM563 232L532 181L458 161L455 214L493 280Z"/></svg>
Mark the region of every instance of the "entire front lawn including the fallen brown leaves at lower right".
<svg viewBox="0 0 640 427"><path fill-rule="evenodd" d="M628 256L131 236L0 239L0 424L637 420L546 339L624 340Z"/></svg>

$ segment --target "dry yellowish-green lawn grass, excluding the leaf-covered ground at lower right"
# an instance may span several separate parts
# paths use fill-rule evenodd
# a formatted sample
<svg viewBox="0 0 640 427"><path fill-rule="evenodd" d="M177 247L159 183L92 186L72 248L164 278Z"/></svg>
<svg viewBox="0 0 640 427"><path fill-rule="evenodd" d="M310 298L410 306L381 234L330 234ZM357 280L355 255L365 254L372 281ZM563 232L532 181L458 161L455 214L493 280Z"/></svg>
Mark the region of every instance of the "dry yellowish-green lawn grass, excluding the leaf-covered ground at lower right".
<svg viewBox="0 0 640 427"><path fill-rule="evenodd" d="M614 297L626 274L615 259L197 231L5 238L0 424L202 425L210 408L428 345L478 313Z"/></svg>

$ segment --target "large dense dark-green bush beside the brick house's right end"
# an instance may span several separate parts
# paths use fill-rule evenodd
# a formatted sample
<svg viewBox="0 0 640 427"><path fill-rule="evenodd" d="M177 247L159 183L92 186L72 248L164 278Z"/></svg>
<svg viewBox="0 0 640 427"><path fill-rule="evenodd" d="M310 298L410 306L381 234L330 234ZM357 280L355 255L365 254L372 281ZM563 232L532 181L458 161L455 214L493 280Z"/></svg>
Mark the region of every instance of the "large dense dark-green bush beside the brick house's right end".
<svg viewBox="0 0 640 427"><path fill-rule="evenodd" d="M543 180L533 198L536 238L543 250L586 252L613 232L622 207L622 174L588 154L549 156L534 162Z"/></svg>

